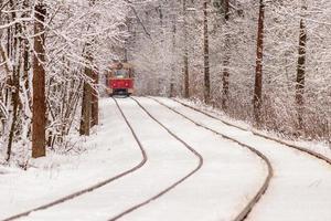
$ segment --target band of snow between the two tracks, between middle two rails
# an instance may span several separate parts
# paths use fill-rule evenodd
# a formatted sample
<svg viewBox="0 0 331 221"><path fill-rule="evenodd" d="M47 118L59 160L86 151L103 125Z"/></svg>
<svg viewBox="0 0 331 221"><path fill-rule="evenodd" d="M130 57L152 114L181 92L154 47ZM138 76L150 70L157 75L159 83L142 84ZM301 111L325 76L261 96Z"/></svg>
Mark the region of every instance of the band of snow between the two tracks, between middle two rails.
<svg viewBox="0 0 331 221"><path fill-rule="evenodd" d="M266 166L260 158L214 133L195 126L151 99L138 101L162 124L196 149L204 158L204 166L173 191L122 220L225 221L237 215L267 176Z"/></svg>

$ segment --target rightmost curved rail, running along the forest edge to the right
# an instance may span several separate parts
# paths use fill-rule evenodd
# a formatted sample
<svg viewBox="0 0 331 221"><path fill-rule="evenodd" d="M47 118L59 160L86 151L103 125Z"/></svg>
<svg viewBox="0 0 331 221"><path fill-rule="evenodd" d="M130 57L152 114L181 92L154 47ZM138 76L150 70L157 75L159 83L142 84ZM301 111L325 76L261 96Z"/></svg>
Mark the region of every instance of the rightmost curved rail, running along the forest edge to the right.
<svg viewBox="0 0 331 221"><path fill-rule="evenodd" d="M292 148L292 149L296 149L296 150L306 152L306 154L308 154L308 155L311 155L311 156L313 156L313 157L316 157L316 158L318 158L318 159L321 159L321 160L325 161L328 165L331 165L331 159L328 158L328 157L325 157L325 156L323 156L323 155L321 155L321 154L319 154L319 152L312 151L312 150L310 150L310 149L306 149L306 148L303 148L303 147L299 147L299 146L297 146L297 145L293 145L293 144L284 141L284 140L281 140L281 139L277 139L277 138L274 138L274 137L269 137L269 136L264 135L264 134L261 134L261 133L258 133L258 131L256 131L256 130L248 130L248 129L246 129L246 128L244 128L244 127L241 127L241 126L231 124L231 123L228 123L228 122L226 122L226 120L224 120L224 119L221 119L221 118L218 118L218 117L216 117L216 116L214 116L214 115L212 115L212 114L209 114L209 113L206 113L206 112L204 112L204 110L201 110L201 109L199 109L199 108L196 108L196 107L193 107L193 106L191 106L191 105L188 105L188 104L185 104L185 103L183 103L183 102L180 102L180 101L174 99L174 98L171 98L171 99L174 101L174 102L177 102L177 103L179 103L179 104L181 104L181 105L183 105L183 106L185 106L185 107L189 107L189 108L191 108L191 109L193 109L193 110L195 110L195 112L199 112L199 113L201 113L201 114L203 114L203 115L205 115L205 116L209 116L209 117L211 117L211 118L213 118L213 119L216 119L216 120L218 120L218 122L221 122L221 123L223 123L223 124L225 124L225 125L227 125L227 126L235 127L235 128L241 129L241 130L244 130L244 131L252 131L254 135L256 135L256 136L258 136L258 137L261 137L261 138L265 138L265 139L268 139L268 140L271 140L271 141L276 141L276 143L279 143L279 144L285 145L285 146L287 146L287 147L290 147L290 148Z"/></svg>

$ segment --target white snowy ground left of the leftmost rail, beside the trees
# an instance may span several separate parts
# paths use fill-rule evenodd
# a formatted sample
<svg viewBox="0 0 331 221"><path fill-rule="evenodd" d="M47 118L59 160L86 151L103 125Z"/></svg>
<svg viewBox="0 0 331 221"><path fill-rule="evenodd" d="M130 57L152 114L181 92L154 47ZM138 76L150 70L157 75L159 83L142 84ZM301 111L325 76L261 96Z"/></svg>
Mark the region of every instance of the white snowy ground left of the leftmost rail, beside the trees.
<svg viewBox="0 0 331 221"><path fill-rule="evenodd" d="M0 220L95 185L140 162L139 147L124 119L118 117L114 103L102 101L100 107L103 125L85 144L92 150L81 156L51 155L35 162L39 168L7 169L0 175Z"/></svg>

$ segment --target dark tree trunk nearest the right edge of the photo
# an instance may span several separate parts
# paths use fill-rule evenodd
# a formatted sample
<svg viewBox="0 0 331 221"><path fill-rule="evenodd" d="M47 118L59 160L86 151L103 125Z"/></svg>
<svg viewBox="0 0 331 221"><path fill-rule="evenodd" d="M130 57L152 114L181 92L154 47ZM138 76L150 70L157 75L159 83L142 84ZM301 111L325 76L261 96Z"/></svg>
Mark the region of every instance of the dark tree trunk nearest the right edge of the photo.
<svg viewBox="0 0 331 221"><path fill-rule="evenodd" d="M306 10L306 7L302 7ZM296 81L296 104L298 114L298 129L303 128L303 95L305 95L305 75L306 75L306 45L307 45L307 29L305 20L300 20L300 35L299 35L299 56L297 65L297 81Z"/></svg>

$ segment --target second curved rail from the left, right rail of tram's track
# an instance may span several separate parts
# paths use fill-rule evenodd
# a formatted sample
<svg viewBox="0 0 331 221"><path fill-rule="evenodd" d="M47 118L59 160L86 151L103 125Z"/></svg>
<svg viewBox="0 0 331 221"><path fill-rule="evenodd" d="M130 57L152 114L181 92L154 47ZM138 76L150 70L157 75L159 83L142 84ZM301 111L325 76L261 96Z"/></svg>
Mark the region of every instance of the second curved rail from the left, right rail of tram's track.
<svg viewBox="0 0 331 221"><path fill-rule="evenodd" d="M183 178L181 178L180 180L178 180L177 182L174 182L173 185L169 186L168 188L166 188L164 190L162 190L161 192L157 193L156 196L145 200L143 202L140 202L127 210L125 210L124 212L113 217L111 219L109 219L108 221L115 221L118 220L119 218L150 203L151 201L162 197L163 194L166 194L167 192L169 192L170 190L174 189L177 186L179 186L180 183L182 183L183 181L185 181L189 177L191 177L192 175L194 175L197 170L200 170L203 166L203 157L194 149L192 148L190 145L188 145L184 140L182 140L181 138L179 138L177 135L174 135L168 127L166 127L162 123L160 123L156 117L153 117L137 99L132 98L138 106L150 117L152 118L156 123L158 123L162 128L164 128L167 130L168 134L170 134L172 137L174 137L177 140L179 140L181 144L183 144L193 155L196 156L196 158L199 159L199 164L197 166L186 176L184 176Z"/></svg>

